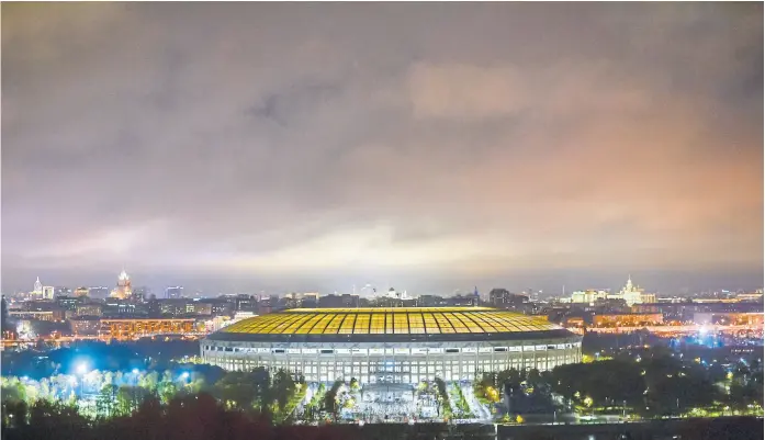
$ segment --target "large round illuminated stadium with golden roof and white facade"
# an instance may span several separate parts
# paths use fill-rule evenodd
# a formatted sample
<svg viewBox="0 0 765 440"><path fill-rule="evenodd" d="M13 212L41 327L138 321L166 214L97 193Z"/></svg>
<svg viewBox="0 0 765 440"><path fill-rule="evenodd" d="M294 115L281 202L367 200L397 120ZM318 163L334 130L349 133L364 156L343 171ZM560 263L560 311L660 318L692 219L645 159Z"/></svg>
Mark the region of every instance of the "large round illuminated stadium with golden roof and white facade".
<svg viewBox="0 0 765 440"><path fill-rule="evenodd" d="M582 338L540 317L487 307L296 308L225 327L201 341L201 352L226 370L416 384L580 362Z"/></svg>

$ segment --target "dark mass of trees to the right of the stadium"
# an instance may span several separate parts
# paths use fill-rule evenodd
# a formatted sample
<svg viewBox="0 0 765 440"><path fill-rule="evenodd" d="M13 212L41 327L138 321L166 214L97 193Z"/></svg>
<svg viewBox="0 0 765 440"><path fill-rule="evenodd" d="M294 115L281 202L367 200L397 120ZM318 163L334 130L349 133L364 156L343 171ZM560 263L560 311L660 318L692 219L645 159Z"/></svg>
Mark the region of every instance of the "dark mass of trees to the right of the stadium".
<svg viewBox="0 0 765 440"><path fill-rule="evenodd" d="M729 392L725 390L728 384ZM476 390L503 390L510 413L551 413L552 394L566 408L610 410L643 417L679 415L695 408L746 409L763 405L763 369L740 363L730 374L720 365L705 368L662 349L640 359L623 356L593 363L560 365L552 371L506 370L483 374Z"/></svg>

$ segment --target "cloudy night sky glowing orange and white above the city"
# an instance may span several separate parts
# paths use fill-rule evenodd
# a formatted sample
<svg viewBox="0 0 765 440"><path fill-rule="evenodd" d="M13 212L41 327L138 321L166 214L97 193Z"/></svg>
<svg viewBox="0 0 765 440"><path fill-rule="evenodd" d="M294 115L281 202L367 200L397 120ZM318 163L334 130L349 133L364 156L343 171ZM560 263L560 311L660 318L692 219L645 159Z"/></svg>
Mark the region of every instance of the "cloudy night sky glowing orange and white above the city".
<svg viewBox="0 0 765 440"><path fill-rule="evenodd" d="M763 278L762 3L3 3L2 290Z"/></svg>

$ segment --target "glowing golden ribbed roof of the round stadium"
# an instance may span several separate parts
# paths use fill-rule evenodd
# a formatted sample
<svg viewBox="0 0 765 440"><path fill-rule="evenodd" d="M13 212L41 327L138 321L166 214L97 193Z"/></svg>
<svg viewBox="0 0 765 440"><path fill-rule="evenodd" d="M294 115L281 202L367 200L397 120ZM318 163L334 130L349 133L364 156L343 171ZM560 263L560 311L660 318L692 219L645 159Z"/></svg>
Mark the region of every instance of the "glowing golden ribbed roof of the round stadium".
<svg viewBox="0 0 765 440"><path fill-rule="evenodd" d="M325 340L328 336L353 340L391 336L398 339L396 335L414 337L407 339L431 339L430 336L464 339L459 336L472 335L482 339L481 336L487 335L551 330L562 328L541 317L488 307L294 308L232 324L218 331L214 339L227 339L226 336L234 335L255 337L247 339L296 336L307 340Z"/></svg>

